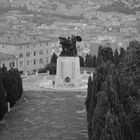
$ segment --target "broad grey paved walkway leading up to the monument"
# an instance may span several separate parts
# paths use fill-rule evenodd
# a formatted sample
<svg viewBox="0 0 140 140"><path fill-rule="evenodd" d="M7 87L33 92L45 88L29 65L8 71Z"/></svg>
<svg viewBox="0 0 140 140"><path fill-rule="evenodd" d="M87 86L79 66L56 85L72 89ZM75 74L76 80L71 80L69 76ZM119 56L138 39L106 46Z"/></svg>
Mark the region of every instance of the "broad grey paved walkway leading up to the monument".
<svg viewBox="0 0 140 140"><path fill-rule="evenodd" d="M87 140L86 93L29 89L33 81L0 123L0 140Z"/></svg>

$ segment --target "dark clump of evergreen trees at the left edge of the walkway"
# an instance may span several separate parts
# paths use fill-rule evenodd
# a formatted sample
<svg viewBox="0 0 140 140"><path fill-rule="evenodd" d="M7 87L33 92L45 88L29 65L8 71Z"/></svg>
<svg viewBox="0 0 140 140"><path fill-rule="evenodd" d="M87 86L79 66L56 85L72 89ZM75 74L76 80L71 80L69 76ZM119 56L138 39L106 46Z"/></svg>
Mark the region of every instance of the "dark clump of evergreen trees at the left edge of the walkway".
<svg viewBox="0 0 140 140"><path fill-rule="evenodd" d="M17 69L0 69L0 120L8 111L7 102L13 107L23 93L22 79Z"/></svg>

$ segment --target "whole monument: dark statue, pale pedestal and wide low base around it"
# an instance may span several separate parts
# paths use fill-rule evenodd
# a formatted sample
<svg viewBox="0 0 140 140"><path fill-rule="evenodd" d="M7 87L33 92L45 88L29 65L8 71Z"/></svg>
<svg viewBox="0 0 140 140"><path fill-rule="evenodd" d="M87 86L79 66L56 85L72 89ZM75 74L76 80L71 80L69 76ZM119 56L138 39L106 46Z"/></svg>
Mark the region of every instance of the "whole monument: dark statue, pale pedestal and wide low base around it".
<svg viewBox="0 0 140 140"><path fill-rule="evenodd" d="M86 90L89 75L80 74L80 62L76 49L76 42L81 42L82 38L72 35L72 37L59 37L59 39L62 51L57 58L56 77L49 78L45 75L39 85L55 91Z"/></svg>

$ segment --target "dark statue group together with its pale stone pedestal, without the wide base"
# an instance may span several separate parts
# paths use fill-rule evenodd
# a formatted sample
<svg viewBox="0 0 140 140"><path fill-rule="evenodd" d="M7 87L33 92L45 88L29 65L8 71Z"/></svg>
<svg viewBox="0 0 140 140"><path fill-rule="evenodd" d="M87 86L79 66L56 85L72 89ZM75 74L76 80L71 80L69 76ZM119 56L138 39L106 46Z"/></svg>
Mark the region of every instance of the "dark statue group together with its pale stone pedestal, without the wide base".
<svg viewBox="0 0 140 140"><path fill-rule="evenodd" d="M57 58L55 87L78 87L82 78L76 42L81 42L82 38L72 35L72 37L59 37L59 39L62 51Z"/></svg>

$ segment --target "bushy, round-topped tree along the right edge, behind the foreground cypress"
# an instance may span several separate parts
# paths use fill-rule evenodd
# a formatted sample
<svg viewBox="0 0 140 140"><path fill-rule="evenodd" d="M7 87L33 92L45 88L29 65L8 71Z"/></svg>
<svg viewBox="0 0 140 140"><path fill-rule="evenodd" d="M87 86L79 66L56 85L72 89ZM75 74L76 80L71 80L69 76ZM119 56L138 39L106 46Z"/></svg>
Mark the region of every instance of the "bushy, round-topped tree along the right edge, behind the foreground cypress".
<svg viewBox="0 0 140 140"><path fill-rule="evenodd" d="M120 62L119 73L121 81L120 100L125 112L131 119L135 136L137 136L140 135L140 42L131 41L129 43ZM135 139L140 139L140 136Z"/></svg>

